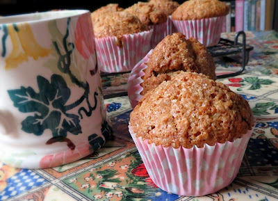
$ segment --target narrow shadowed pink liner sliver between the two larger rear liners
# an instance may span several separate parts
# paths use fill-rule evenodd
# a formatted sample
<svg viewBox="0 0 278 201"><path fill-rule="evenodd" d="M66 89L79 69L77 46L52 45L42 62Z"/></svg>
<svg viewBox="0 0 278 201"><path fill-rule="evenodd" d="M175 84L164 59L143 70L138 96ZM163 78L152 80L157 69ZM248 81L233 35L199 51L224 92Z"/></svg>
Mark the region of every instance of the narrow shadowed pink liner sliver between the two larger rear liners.
<svg viewBox="0 0 278 201"><path fill-rule="evenodd" d="M161 24L154 24L150 25L149 27L151 29L154 29L154 33L152 34L152 39L151 39L151 49L156 47L163 38L166 37L167 35L167 21Z"/></svg>

